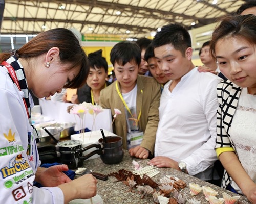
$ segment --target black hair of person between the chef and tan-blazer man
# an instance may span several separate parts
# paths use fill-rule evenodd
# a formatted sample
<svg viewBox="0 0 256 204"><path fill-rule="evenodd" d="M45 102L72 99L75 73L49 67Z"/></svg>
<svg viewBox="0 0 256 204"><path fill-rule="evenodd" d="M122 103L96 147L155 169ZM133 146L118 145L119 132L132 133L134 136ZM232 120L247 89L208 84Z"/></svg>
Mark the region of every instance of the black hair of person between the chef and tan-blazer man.
<svg viewBox="0 0 256 204"><path fill-rule="evenodd" d="M94 53L90 53L88 55L88 59L90 68L104 68L105 72L108 73L108 62L106 62L106 58L102 57L102 49L99 49Z"/></svg>

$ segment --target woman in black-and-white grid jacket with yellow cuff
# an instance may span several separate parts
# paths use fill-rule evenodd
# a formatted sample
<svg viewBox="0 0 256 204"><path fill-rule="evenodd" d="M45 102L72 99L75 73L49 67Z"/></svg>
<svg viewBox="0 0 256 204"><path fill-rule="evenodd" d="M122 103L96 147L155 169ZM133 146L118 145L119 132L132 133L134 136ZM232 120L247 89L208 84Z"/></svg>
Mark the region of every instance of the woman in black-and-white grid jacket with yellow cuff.
<svg viewBox="0 0 256 204"><path fill-rule="evenodd" d="M210 48L228 79L217 87L216 152L226 170L222 184L256 203L256 17L223 17Z"/></svg>

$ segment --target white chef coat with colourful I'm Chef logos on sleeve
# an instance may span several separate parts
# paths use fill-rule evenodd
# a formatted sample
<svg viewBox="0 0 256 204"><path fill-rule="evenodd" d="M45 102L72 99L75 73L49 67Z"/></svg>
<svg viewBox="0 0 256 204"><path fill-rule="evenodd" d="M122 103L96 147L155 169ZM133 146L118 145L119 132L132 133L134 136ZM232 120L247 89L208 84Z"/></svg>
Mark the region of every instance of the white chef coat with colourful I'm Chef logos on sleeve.
<svg viewBox="0 0 256 204"><path fill-rule="evenodd" d="M40 162L33 136L27 155L28 135L33 128L23 97L24 92L12 82L8 70L0 66L0 203L64 203L60 188L33 187Z"/></svg>

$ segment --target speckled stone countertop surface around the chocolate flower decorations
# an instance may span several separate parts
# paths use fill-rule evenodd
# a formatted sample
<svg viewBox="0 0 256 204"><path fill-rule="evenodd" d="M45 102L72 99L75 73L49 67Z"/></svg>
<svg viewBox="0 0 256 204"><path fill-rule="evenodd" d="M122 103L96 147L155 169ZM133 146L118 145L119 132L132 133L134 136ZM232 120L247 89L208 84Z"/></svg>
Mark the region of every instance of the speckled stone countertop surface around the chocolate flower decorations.
<svg viewBox="0 0 256 204"><path fill-rule="evenodd" d="M133 160L139 162L142 167L147 166L147 162L148 162L147 159L140 160L140 159L132 158L129 155L129 153L125 150L123 160L119 164L113 164L113 165L104 164L100 158L96 158L96 159L84 161L83 167L86 167L88 169L91 169L94 172L98 172L102 174L118 172L118 170L120 169L133 171L134 170L134 165L132 164ZM197 179L196 177L177 171L176 169L159 168L159 170L160 170L160 174L152 177L152 179L155 182L160 183L161 177L165 175L176 176L179 179L186 182L187 184L187 186L183 190L186 193L186 198L187 199L195 198L196 200L200 200L202 204L209 203L209 202L205 200L205 196L203 195L203 192L200 192L196 196L191 196L189 194L189 183L196 183L200 186L209 186L212 189L215 189L216 191L219 192L216 196L217 198L222 197L222 192L226 192L231 196L236 195L223 188L220 188L218 186L215 186L205 181L202 181L200 179ZM137 203L151 204L152 203L154 204L152 195L147 195L144 199L141 199L137 189L134 190L135 193L127 192L128 190L129 190L128 186L126 186L123 182L117 182L117 179L112 176L109 176L109 179L106 181L98 180L98 183L97 183L97 194L102 197L105 204L119 204L119 203L122 203L122 204L137 204ZM240 203L250 203L244 196L241 196L241 198L238 201L240 201Z"/></svg>

